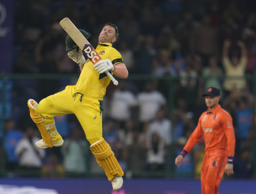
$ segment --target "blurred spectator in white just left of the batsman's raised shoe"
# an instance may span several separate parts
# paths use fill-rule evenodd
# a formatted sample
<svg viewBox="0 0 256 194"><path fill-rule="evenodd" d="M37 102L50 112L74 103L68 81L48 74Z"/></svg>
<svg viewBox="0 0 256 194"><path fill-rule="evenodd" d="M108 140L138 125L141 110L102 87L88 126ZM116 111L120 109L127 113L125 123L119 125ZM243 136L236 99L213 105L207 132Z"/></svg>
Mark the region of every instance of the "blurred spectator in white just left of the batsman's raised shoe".
<svg viewBox="0 0 256 194"><path fill-rule="evenodd" d="M38 130L27 127L23 138L18 142L15 155L19 158L19 166L25 170L41 169L42 160L45 157L45 150L35 147L35 143L40 140Z"/></svg>

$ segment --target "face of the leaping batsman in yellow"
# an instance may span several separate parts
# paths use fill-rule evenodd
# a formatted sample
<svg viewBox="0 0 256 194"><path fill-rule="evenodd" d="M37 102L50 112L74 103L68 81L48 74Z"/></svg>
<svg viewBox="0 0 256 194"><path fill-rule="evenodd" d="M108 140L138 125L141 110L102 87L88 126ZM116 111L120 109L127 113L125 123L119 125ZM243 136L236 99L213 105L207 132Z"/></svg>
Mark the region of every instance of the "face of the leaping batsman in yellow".
<svg viewBox="0 0 256 194"><path fill-rule="evenodd" d="M116 41L115 28L112 26L103 27L99 35L99 43L114 43Z"/></svg>

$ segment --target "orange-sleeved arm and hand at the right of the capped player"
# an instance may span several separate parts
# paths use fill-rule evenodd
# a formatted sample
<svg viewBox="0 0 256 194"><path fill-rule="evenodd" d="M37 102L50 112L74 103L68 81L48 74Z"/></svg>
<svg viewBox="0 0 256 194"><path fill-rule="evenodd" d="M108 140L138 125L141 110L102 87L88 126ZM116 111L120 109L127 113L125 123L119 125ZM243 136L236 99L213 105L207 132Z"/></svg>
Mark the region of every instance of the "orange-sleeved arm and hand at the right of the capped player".
<svg viewBox="0 0 256 194"><path fill-rule="evenodd" d="M234 131L233 121L230 114L227 114L227 117L223 117L222 119L223 119L222 127L224 129L225 136L227 138L227 149L228 149L228 162L225 167L225 173L228 176L230 176L234 174L233 159L234 159L235 144L236 144L235 131Z"/></svg>

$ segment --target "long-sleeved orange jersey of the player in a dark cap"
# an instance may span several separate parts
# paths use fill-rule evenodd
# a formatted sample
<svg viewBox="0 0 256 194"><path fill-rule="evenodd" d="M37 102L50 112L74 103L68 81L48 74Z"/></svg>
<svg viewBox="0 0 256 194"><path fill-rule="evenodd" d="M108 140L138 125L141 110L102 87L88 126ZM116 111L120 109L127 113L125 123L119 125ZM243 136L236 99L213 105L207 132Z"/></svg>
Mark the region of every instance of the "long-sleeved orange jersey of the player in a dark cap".
<svg viewBox="0 0 256 194"><path fill-rule="evenodd" d="M189 137L184 150L189 152L204 136L205 151L226 149L228 157L234 157L235 132L230 114L220 105L201 114L197 128Z"/></svg>

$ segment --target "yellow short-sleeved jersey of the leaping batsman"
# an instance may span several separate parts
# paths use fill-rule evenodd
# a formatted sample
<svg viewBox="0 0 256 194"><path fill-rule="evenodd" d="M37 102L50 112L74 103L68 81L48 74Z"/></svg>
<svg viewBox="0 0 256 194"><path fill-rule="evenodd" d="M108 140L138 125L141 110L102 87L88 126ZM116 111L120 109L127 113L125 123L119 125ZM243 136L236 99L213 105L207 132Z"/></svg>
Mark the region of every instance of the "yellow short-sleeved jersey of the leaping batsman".
<svg viewBox="0 0 256 194"><path fill-rule="evenodd" d="M122 63L123 61L121 54L112 47L111 43L99 44L95 50L99 53L102 60L110 59L113 65ZM113 72L111 72L111 74L113 74ZM110 81L106 73L100 74L93 68L91 61L87 59L75 89L84 96L102 100Z"/></svg>

